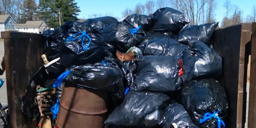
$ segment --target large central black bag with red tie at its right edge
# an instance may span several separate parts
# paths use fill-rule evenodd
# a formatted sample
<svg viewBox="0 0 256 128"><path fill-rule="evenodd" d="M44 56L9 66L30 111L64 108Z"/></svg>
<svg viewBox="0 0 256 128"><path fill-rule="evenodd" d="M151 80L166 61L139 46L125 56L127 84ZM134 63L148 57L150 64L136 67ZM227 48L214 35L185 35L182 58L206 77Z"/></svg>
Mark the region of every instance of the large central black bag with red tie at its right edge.
<svg viewBox="0 0 256 128"><path fill-rule="evenodd" d="M180 56L146 55L136 59L137 76L132 90L169 93L180 89Z"/></svg>

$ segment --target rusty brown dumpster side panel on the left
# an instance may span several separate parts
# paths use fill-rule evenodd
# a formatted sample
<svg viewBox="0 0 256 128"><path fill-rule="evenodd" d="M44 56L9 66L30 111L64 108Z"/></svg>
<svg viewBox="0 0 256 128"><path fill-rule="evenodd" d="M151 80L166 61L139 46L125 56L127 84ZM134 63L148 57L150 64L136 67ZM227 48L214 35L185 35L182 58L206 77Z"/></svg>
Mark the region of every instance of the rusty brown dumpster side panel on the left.
<svg viewBox="0 0 256 128"><path fill-rule="evenodd" d="M23 32L2 32L5 46L8 116L11 128L35 128L37 122L26 123L21 111L22 96L29 79L43 64L44 37ZM14 94L13 94L14 93ZM9 97L10 95L10 97Z"/></svg>

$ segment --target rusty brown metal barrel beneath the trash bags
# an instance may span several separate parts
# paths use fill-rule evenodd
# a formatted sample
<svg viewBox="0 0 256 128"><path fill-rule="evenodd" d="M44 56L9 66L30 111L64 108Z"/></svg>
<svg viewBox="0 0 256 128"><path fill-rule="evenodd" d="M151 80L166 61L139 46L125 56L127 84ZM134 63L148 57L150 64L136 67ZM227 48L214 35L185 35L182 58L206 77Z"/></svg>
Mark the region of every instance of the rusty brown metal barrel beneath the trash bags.
<svg viewBox="0 0 256 128"><path fill-rule="evenodd" d="M56 121L58 128L103 128L108 106L105 90L82 89L65 81Z"/></svg>

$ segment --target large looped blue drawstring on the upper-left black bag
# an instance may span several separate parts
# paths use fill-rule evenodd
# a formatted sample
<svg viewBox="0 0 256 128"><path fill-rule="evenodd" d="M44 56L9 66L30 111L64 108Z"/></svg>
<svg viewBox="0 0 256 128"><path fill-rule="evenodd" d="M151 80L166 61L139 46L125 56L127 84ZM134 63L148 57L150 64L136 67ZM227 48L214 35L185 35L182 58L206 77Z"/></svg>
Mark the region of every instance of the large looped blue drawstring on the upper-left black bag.
<svg viewBox="0 0 256 128"><path fill-rule="evenodd" d="M80 35L80 36L74 38L74 36L76 36L76 35ZM86 49L89 47L90 43L91 43L91 38L90 38L90 36L87 34L86 31L77 32L76 34L71 35L69 38L67 38L67 41L75 41L75 40L79 40L79 39L81 39L81 38L82 38L81 46L82 46L83 50L86 50ZM89 39L89 42L88 42L88 44L87 44L86 47L84 47L84 39L85 39L85 38L88 38L88 39Z"/></svg>

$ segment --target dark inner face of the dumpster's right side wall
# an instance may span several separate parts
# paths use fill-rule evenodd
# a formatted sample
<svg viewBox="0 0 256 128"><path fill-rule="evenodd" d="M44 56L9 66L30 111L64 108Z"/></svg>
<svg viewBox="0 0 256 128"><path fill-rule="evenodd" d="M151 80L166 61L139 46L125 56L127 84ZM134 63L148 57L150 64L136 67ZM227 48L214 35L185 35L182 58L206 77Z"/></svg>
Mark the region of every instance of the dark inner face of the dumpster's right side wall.
<svg viewBox="0 0 256 128"><path fill-rule="evenodd" d="M212 45L222 57L219 82L224 85L229 102L229 115L225 121L227 128L236 128L240 39L241 25L215 30L212 37Z"/></svg>

